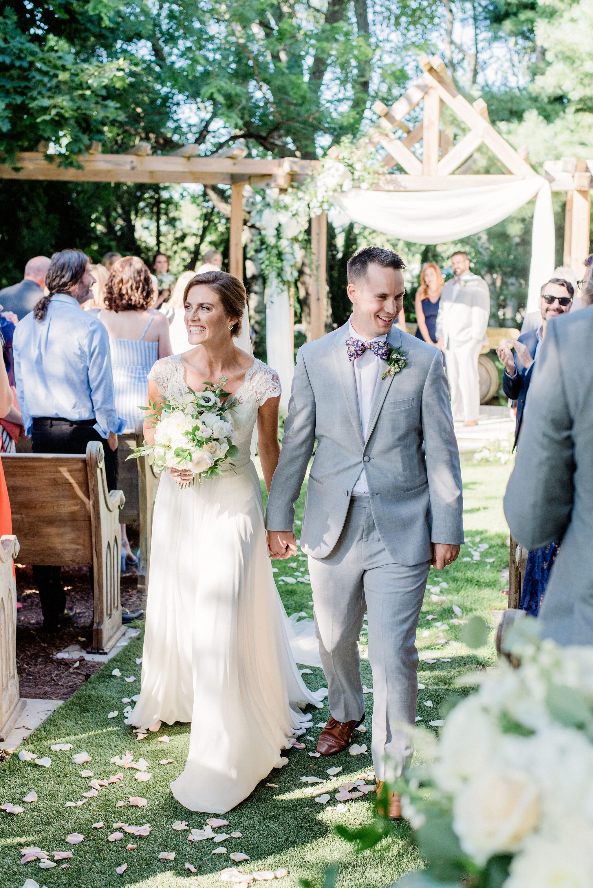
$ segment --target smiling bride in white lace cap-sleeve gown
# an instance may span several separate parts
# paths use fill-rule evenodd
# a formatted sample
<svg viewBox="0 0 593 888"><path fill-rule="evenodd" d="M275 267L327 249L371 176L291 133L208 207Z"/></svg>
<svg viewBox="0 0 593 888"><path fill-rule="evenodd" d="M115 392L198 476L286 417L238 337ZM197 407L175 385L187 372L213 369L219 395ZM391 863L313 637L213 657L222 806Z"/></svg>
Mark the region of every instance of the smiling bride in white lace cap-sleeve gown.
<svg viewBox="0 0 593 888"><path fill-rule="evenodd" d="M178 399L225 377L234 395L239 456L210 480L182 489L185 470L163 472L154 503L142 687L127 724L158 730L191 721L186 767L170 786L192 811L225 813L284 762L325 688L304 685L291 653L291 626L273 581L264 511L249 445L257 421L270 490L278 463L280 380L241 351L246 292L224 272L186 286L190 351L157 361L148 400ZM157 409L158 414L158 409ZM145 424L146 442L154 427ZM153 415L154 416L154 415ZM306 661L304 661L306 662Z"/></svg>

